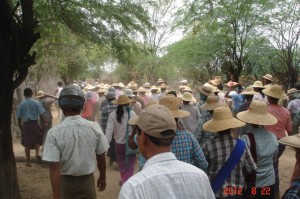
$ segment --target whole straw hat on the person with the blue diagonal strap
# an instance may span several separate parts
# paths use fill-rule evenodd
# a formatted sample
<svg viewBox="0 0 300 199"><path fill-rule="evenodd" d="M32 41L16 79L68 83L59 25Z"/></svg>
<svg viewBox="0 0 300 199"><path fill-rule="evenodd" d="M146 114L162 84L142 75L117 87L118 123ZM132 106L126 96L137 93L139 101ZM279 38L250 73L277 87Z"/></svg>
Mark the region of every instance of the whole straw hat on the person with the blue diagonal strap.
<svg viewBox="0 0 300 199"><path fill-rule="evenodd" d="M203 129L209 132L219 132L244 126L245 123L234 118L228 107L218 107L214 110L213 119L203 125Z"/></svg>

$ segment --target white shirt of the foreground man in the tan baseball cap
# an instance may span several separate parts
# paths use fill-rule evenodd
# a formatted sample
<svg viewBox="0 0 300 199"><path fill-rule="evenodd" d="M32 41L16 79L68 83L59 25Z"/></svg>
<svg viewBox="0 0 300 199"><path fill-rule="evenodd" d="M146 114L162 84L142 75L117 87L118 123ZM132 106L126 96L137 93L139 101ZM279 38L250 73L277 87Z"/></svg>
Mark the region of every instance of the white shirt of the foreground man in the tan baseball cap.
<svg viewBox="0 0 300 199"><path fill-rule="evenodd" d="M122 186L119 199L212 199L207 175L171 152L150 158L143 170Z"/></svg>

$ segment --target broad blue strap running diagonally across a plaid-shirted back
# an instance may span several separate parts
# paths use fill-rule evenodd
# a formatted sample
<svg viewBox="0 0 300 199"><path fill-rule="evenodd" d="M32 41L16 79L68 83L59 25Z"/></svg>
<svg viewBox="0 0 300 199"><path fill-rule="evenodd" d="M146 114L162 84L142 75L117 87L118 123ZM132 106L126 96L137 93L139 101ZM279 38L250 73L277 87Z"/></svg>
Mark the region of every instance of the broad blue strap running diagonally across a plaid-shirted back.
<svg viewBox="0 0 300 199"><path fill-rule="evenodd" d="M211 182L211 187L214 193L218 192L218 190L224 184L226 178L230 175L231 171L240 161L242 155L244 154L245 148L246 148L245 142L240 139L237 139L236 145L232 150L229 158L227 159L225 164L222 166L222 168L219 170L219 172Z"/></svg>

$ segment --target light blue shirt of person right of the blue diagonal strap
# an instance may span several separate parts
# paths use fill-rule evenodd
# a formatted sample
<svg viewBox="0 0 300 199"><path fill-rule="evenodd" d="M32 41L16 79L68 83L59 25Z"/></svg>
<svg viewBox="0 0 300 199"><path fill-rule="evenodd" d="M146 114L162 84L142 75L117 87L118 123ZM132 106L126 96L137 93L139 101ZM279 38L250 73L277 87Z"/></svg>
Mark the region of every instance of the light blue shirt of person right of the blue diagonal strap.
<svg viewBox="0 0 300 199"><path fill-rule="evenodd" d="M256 145L256 187L270 186L275 183L275 171L273 162L277 157L278 143L276 136L265 128L252 128ZM249 137L244 134L241 139L246 142L250 149Z"/></svg>

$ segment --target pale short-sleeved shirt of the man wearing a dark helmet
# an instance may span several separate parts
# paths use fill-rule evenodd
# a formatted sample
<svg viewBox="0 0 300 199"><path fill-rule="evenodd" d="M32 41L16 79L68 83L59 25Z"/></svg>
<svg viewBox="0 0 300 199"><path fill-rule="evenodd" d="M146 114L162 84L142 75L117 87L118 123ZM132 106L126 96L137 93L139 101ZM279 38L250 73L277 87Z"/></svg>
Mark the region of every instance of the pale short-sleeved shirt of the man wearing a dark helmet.
<svg viewBox="0 0 300 199"><path fill-rule="evenodd" d="M100 126L80 115L68 116L48 131L43 160L60 162L61 175L81 176L95 171L96 154L109 145Z"/></svg>

